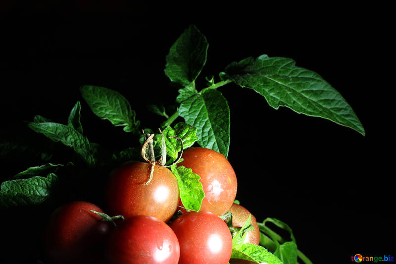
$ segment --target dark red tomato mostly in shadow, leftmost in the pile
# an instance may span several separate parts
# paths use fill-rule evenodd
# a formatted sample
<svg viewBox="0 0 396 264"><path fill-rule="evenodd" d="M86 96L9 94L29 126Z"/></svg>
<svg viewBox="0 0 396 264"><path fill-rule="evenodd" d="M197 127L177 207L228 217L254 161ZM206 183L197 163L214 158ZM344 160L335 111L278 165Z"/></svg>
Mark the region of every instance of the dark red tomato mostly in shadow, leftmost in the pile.
<svg viewBox="0 0 396 264"><path fill-rule="evenodd" d="M103 212L88 202L71 202L52 213L45 232L50 263L83 263L104 242L111 227L90 210Z"/></svg>

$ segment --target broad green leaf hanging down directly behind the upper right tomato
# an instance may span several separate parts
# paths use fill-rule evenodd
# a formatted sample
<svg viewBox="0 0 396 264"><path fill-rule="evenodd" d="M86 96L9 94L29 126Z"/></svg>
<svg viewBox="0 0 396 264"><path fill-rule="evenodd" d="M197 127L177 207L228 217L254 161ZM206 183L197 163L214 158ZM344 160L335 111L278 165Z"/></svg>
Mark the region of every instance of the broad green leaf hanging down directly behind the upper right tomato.
<svg viewBox="0 0 396 264"><path fill-rule="evenodd" d="M186 123L197 127L198 144L223 154L226 158L230 146L230 108L223 95L213 89L200 94L190 92L179 107L179 115Z"/></svg>

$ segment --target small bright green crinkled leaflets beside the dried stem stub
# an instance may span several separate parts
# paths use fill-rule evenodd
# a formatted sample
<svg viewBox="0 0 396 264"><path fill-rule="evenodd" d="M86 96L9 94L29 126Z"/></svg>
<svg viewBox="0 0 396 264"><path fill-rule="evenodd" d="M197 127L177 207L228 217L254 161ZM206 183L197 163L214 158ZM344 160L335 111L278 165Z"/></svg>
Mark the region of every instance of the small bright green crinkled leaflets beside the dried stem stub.
<svg viewBox="0 0 396 264"><path fill-rule="evenodd" d="M177 123L173 128L170 126L166 127L162 133L165 137L166 155L169 157L169 159L167 159L168 164L175 161L178 157L178 153L182 150L180 141L171 137L180 138L183 142L184 149L193 146L198 140L197 127L183 122ZM161 146L161 140L160 134L155 135L154 142L157 148Z"/></svg>

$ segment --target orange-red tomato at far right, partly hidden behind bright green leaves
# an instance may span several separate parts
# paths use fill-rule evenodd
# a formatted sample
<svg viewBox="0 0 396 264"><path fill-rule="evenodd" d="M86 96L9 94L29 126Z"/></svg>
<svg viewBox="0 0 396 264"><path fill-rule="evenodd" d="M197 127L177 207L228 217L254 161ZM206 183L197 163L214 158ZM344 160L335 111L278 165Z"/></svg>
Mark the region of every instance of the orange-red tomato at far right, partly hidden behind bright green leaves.
<svg viewBox="0 0 396 264"><path fill-rule="evenodd" d="M254 229L246 233L244 243L258 245L260 243L260 229L258 229L256 217L247 211L246 208L237 204L233 204L228 211L232 213L233 227L242 227L246 223L249 214L251 215L250 224L253 225Z"/></svg>

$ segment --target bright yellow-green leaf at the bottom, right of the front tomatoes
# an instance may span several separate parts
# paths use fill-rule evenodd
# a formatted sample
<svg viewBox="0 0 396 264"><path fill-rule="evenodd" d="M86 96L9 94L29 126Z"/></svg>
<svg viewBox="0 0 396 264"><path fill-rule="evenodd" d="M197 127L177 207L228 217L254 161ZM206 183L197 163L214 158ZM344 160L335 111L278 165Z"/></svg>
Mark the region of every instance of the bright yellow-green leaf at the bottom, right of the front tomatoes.
<svg viewBox="0 0 396 264"><path fill-rule="evenodd" d="M265 248L249 243L244 243L245 230L250 226L251 215L244 226L233 236L232 259L242 259L256 263L282 264L282 262Z"/></svg>

